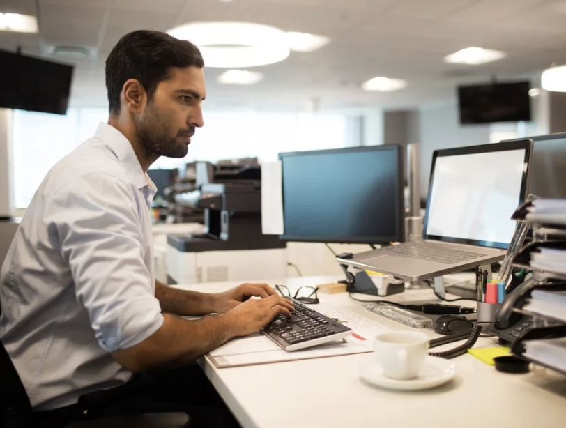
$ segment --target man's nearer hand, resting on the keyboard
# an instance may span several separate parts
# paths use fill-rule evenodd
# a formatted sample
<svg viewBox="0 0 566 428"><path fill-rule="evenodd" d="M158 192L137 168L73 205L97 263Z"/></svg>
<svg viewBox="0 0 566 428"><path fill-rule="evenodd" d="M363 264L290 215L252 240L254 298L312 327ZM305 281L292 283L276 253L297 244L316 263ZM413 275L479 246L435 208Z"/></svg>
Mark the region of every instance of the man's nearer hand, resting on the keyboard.
<svg viewBox="0 0 566 428"><path fill-rule="evenodd" d="M291 316L294 310L291 300L274 294L262 299L247 300L229 310L225 316L231 318L236 336L246 336L267 326L279 314Z"/></svg>

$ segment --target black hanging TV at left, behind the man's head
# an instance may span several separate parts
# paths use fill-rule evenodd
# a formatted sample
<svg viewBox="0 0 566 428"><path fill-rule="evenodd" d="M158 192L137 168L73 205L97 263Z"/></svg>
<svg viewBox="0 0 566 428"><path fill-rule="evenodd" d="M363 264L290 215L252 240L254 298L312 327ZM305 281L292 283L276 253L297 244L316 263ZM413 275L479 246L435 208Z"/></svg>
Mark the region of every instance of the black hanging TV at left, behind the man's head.
<svg viewBox="0 0 566 428"><path fill-rule="evenodd" d="M0 50L0 107L66 114L72 66Z"/></svg>

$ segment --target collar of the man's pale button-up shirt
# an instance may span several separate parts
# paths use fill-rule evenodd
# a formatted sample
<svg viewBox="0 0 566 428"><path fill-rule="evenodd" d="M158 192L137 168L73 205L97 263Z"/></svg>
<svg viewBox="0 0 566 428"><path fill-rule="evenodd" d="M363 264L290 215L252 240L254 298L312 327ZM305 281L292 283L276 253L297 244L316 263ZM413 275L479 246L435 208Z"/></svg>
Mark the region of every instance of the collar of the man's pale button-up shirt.
<svg viewBox="0 0 566 428"><path fill-rule="evenodd" d="M144 173L142 165L139 165L139 160L137 159L130 140L128 140L122 132L114 128L114 126L102 122L98 125L94 137L108 144L116 155L116 158L118 158L126 171L128 171L130 178L132 178L132 183L134 183L136 188L142 189L147 187L148 190L150 190L148 196L151 195L153 199L157 188L153 181L151 181L151 178Z"/></svg>

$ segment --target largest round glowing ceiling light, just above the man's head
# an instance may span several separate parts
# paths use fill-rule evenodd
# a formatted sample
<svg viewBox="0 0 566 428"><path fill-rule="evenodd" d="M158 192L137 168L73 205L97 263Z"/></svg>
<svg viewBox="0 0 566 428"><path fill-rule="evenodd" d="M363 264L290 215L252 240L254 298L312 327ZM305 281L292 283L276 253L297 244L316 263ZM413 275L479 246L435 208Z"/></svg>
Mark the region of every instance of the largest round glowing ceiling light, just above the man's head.
<svg viewBox="0 0 566 428"><path fill-rule="evenodd" d="M167 31L201 49L207 67L265 66L289 56L284 31L250 22L192 22Z"/></svg>

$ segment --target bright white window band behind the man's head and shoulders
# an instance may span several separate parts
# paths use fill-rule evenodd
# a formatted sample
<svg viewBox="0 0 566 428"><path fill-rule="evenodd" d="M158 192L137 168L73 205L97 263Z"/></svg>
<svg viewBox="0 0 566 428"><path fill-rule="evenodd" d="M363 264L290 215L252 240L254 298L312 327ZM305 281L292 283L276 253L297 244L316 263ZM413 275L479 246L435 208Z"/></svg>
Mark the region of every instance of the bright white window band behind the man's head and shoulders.
<svg viewBox="0 0 566 428"><path fill-rule="evenodd" d="M47 171L91 137L107 109L68 109L66 116L15 110L13 123L15 203L26 208ZM159 158L152 169L184 167L194 160L252 158L275 161L280 152L339 148L347 145L342 114L204 112L185 158ZM33 153L30 156L29 153Z"/></svg>

